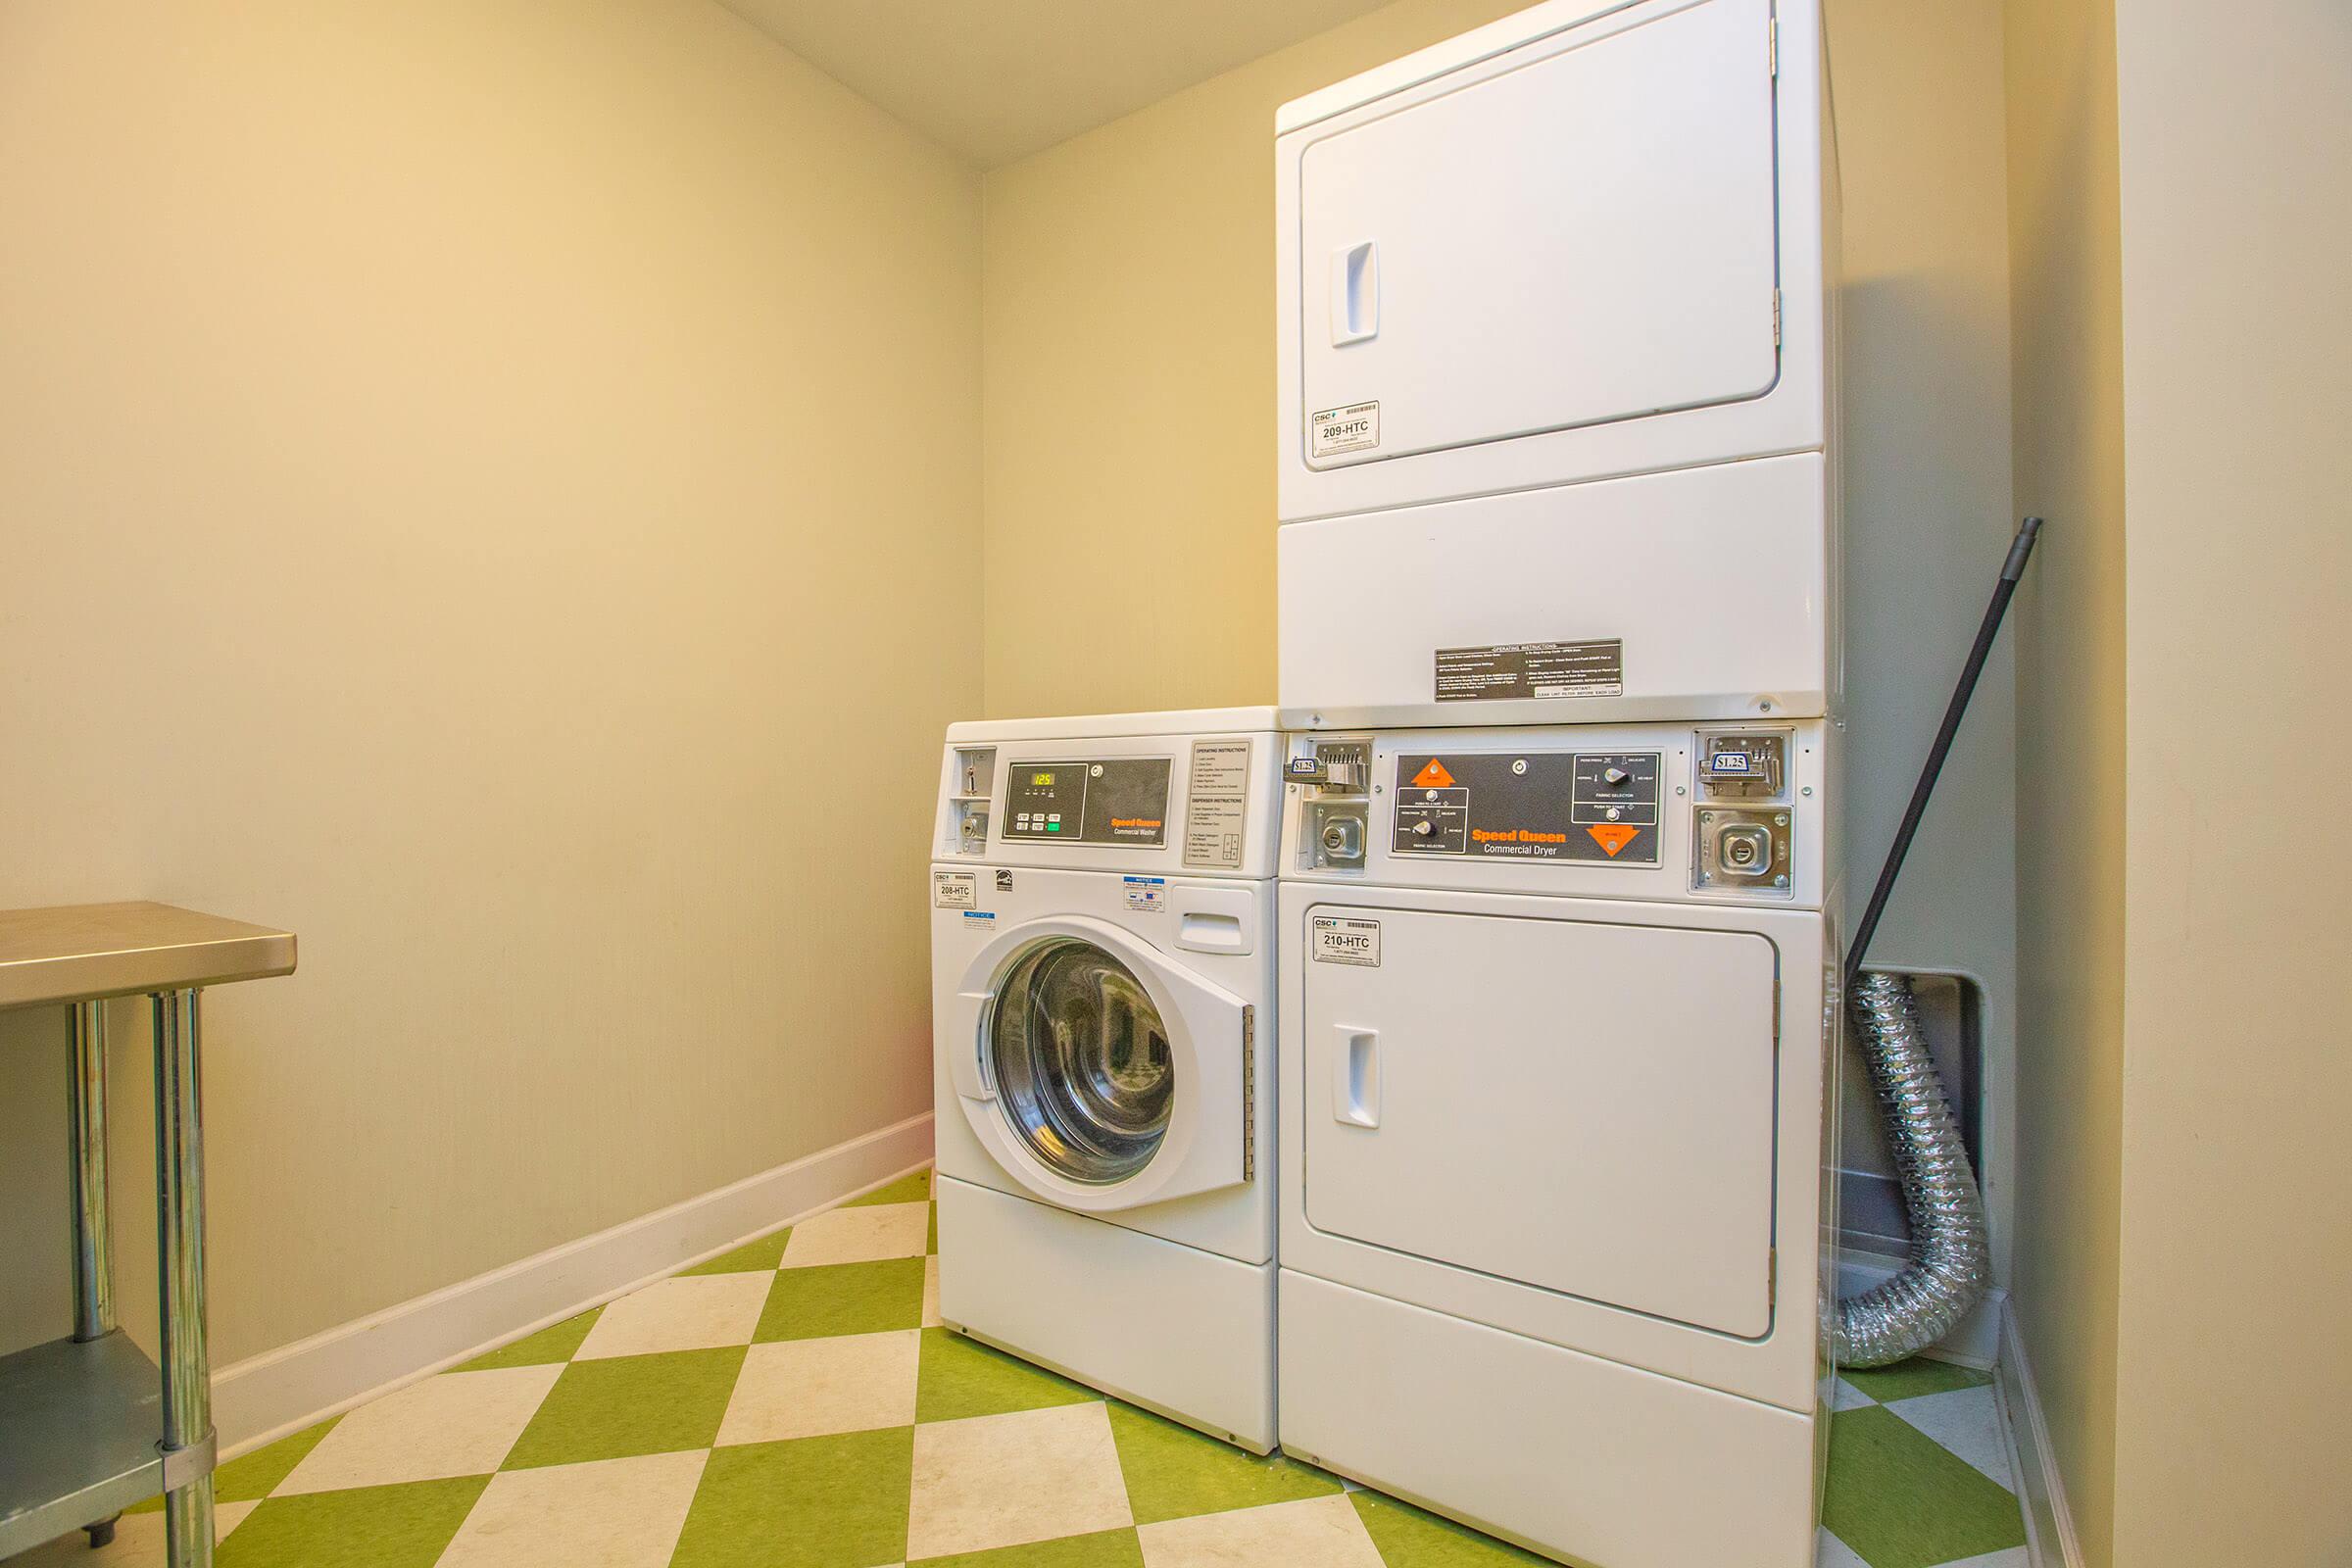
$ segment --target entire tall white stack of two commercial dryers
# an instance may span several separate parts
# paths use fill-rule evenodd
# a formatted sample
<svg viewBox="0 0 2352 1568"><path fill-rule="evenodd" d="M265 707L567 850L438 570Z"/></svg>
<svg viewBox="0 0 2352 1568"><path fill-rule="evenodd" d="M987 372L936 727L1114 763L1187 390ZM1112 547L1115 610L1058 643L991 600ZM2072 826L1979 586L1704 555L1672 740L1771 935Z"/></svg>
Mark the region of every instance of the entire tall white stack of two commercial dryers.
<svg viewBox="0 0 2352 1568"><path fill-rule="evenodd" d="M1839 785L1818 0L1550 0L1287 106L1284 1448L1806 1568Z"/></svg>

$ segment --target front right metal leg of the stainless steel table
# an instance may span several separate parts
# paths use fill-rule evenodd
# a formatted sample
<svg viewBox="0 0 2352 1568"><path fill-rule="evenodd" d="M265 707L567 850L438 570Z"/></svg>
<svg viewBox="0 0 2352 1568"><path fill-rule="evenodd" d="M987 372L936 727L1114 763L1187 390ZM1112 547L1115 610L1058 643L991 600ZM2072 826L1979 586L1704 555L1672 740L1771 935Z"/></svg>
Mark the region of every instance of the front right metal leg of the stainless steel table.
<svg viewBox="0 0 2352 1568"><path fill-rule="evenodd" d="M205 1110L195 992L155 992L155 1265L162 1281L162 1446L212 1434L205 1352ZM212 1568L212 1474L165 1493L172 1568Z"/></svg>

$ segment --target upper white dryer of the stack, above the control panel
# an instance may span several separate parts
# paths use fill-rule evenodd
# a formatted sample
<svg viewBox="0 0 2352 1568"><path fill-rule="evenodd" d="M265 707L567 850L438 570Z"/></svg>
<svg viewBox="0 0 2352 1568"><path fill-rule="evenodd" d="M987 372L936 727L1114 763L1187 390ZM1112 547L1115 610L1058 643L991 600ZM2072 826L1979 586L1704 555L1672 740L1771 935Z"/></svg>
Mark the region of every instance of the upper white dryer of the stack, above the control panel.
<svg viewBox="0 0 2352 1568"><path fill-rule="evenodd" d="M1835 715L1818 0L1545 0L1275 132L1284 726Z"/></svg>

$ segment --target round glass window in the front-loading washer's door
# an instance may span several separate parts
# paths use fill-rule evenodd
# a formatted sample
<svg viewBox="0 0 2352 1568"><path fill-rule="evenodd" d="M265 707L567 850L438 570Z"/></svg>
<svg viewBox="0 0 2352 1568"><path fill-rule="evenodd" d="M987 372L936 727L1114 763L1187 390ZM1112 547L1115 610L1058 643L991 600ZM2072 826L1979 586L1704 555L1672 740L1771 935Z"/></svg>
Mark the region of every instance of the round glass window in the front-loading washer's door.
<svg viewBox="0 0 2352 1568"><path fill-rule="evenodd" d="M1160 1152L1176 1100L1169 1030L1094 943L1023 952L988 1009L983 1053L1007 1124L1054 1175L1108 1187Z"/></svg>

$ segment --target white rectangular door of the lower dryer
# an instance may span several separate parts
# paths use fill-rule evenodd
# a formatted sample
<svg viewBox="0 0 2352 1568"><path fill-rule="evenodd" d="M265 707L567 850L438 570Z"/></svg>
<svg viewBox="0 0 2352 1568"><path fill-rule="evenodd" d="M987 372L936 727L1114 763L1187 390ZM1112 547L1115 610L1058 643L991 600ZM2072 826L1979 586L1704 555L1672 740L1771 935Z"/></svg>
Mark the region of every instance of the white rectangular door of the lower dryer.
<svg viewBox="0 0 2352 1568"><path fill-rule="evenodd" d="M1315 914L1381 926L1378 964L1305 964L1315 1229L1736 1338L1771 1331L1769 940Z"/></svg>

